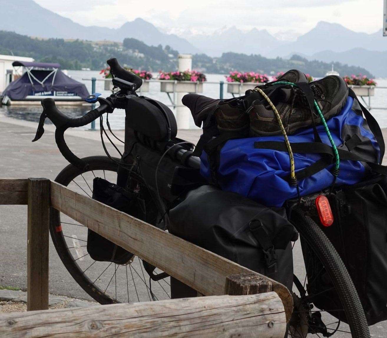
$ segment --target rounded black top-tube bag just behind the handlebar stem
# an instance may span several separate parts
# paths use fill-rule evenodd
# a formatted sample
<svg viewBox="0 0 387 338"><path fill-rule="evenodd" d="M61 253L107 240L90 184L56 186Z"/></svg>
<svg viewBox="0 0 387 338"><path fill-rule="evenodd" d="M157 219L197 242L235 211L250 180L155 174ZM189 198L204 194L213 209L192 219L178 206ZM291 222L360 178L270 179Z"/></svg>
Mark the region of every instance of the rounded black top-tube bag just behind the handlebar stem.
<svg viewBox="0 0 387 338"><path fill-rule="evenodd" d="M169 141L177 135L175 116L168 106L145 96L128 99L126 125L153 141Z"/></svg>

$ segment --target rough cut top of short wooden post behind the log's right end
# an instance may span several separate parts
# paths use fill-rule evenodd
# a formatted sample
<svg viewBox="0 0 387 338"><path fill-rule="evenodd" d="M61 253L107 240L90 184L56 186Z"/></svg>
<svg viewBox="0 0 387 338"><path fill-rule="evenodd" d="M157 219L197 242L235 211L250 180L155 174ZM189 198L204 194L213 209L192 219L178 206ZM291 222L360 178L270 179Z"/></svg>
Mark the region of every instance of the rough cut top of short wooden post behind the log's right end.
<svg viewBox="0 0 387 338"><path fill-rule="evenodd" d="M273 284L267 278L256 273L231 275L226 278L224 294L226 295L254 295L256 293L271 292Z"/></svg>

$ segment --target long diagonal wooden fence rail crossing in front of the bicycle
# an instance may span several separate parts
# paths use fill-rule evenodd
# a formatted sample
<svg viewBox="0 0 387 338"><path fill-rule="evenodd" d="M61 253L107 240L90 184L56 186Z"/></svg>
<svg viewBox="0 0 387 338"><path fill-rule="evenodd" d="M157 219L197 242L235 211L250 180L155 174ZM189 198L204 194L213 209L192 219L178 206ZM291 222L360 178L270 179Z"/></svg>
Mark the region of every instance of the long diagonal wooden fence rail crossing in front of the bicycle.
<svg viewBox="0 0 387 338"><path fill-rule="evenodd" d="M229 275L255 273L56 182L51 182L51 206L207 296L223 295ZM260 276L271 281L289 319L293 299L288 289Z"/></svg>

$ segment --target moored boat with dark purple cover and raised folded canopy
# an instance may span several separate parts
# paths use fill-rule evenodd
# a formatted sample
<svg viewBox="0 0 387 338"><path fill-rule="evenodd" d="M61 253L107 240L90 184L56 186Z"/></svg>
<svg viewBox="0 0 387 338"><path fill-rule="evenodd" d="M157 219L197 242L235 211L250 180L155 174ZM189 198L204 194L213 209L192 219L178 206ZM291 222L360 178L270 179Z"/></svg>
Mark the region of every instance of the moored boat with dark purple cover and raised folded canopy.
<svg viewBox="0 0 387 338"><path fill-rule="evenodd" d="M3 105L40 104L44 98L53 98L58 104L80 105L89 95L83 83L60 70L59 63L14 61L12 66L17 71L22 67L22 75L4 89Z"/></svg>

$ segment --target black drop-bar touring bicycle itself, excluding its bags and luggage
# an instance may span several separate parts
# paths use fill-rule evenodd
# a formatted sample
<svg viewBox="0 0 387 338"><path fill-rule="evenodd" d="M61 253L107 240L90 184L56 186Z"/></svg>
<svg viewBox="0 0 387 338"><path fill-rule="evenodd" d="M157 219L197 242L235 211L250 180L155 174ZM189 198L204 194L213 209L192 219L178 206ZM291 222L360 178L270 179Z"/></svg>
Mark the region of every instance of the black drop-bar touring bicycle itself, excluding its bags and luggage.
<svg viewBox="0 0 387 338"><path fill-rule="evenodd" d="M65 186L72 185L72 189L81 194L92 197L92 180L95 177L103 177L110 182L117 182L120 187L129 192L136 192L144 199L146 210L149 213L144 216L144 221L163 228L163 214L171 201L168 196L159 196L158 189L149 186L136 167L136 159L131 155L130 147L135 142L144 142L136 132L125 128L125 141L116 137L110 129L110 133L125 146L121 158L112 157L106 150L103 135L110 142L103 126L102 115L112 113L115 108L123 108L130 114L127 107L128 98L137 96L135 90L141 86L141 79L135 74L123 69L116 59L108 60L113 77L113 85L119 91L108 98L100 98L93 94L87 98L89 102L98 101L100 105L80 118L70 118L60 112L52 99L42 101L44 111L39 120L39 126L34 141L39 139L44 132L45 118L50 118L57 127L55 141L60 152L70 162L55 179L55 182ZM194 109L194 107L189 107ZM106 156L90 156L78 158L68 148L64 140L64 132L68 127L80 127L100 118L101 139ZM177 131L177 128L176 128ZM170 130L171 132L171 130ZM113 142L112 142L113 143ZM185 146L182 146L184 144ZM190 168L200 167L200 158L188 154L192 146L189 142L175 138L166 143L151 142L152 151L158 151L163 156L168 155L168 149L180 145L174 153L176 160L182 161ZM116 148L117 149L117 148ZM117 149L118 150L118 149ZM157 188L157 187L156 187ZM302 250L305 259L305 271L294 275L293 300L294 312L289 321L288 336L305 337L308 334L320 336L352 335L353 337L369 337L370 333L365 314L361 306L358 294L336 249L325 236L320 226L313 220L310 214L310 201L317 194L301 198L301 203L289 201L288 210L291 210L290 220L300 233L300 244L293 244L295 250ZM127 264L114 264L93 261L88 257L85 247L87 244L87 228L77 224L68 216L61 215L57 210L51 209L50 234L54 246L63 264L75 279L75 281L97 302L111 304L117 302L131 302L140 300L159 300L171 297L170 282L165 274L149 264L142 262L139 257L132 257ZM149 276L146 276L146 273ZM155 274L156 273L156 274ZM149 281L147 281L149 277ZM114 278L114 281L113 281ZM152 285L152 281L154 281ZM303 282L301 282L303 281ZM141 287L139 286L139 283ZM324 283L324 292L313 294L317 289L317 283ZM187 287L187 295L195 295L194 290ZM192 292L193 291L193 292ZM316 297L326 297L328 300L339 299L339 304L330 301L330 309L313 309L313 300ZM329 322L328 322L329 321ZM342 328L342 321L348 323L347 328ZM332 322L332 323L330 323ZM326 324L328 323L328 324Z"/></svg>

